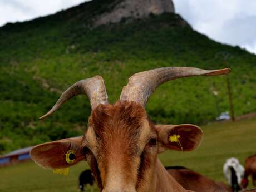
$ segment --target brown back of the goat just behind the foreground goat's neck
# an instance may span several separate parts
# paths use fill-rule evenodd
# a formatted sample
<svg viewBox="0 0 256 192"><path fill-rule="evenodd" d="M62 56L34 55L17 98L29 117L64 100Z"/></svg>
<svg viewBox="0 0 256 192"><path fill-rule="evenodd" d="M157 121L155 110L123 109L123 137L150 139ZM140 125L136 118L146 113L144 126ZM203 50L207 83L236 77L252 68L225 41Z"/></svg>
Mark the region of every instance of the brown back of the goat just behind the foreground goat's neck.
<svg viewBox="0 0 256 192"><path fill-rule="evenodd" d="M193 170L184 168L182 166L165 167L168 173L178 181L178 183L187 190L195 192L232 192L232 189L224 183L213 181L205 176L196 173Z"/></svg>

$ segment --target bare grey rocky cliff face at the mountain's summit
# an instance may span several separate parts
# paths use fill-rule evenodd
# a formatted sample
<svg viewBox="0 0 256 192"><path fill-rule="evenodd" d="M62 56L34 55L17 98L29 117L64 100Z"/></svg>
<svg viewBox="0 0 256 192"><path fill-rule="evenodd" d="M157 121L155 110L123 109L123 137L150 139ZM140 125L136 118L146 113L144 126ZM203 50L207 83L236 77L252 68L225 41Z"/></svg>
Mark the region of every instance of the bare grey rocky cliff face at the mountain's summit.
<svg viewBox="0 0 256 192"><path fill-rule="evenodd" d="M149 14L174 13L172 0L116 0L109 11L95 19L94 25L118 23L127 18L144 18Z"/></svg>

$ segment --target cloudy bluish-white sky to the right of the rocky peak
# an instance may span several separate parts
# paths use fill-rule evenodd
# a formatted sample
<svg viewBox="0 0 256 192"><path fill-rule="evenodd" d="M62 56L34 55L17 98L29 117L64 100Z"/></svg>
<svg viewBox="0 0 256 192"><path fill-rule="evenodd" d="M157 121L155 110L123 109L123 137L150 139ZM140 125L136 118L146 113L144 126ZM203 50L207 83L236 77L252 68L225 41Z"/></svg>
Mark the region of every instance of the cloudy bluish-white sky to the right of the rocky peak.
<svg viewBox="0 0 256 192"><path fill-rule="evenodd" d="M256 53L256 1L174 0L174 4L196 31Z"/></svg>

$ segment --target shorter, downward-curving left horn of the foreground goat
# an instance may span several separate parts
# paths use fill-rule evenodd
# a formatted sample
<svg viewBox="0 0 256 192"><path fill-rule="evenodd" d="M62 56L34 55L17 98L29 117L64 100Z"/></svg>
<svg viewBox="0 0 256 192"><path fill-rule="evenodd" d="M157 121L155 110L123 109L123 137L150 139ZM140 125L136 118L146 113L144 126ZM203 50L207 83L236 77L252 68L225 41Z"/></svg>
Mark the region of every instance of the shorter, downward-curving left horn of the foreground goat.
<svg viewBox="0 0 256 192"><path fill-rule="evenodd" d="M62 93L60 99L58 99L52 109L39 119L45 119L46 117L52 115L53 112L55 112L64 102L80 94L85 94L88 96L92 109L95 109L95 107L97 107L99 104L106 105L109 103L107 100L107 92L103 78L101 76L94 76L73 84L70 88Z"/></svg>

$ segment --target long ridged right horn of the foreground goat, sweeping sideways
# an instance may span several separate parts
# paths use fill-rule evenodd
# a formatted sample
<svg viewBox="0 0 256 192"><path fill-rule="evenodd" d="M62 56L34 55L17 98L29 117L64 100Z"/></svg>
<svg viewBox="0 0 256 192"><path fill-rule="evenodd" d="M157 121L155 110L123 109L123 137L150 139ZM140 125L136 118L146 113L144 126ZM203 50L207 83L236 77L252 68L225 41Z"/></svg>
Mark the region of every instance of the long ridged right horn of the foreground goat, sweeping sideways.
<svg viewBox="0 0 256 192"><path fill-rule="evenodd" d="M135 101L145 107L147 99L152 92L166 81L196 75L224 75L229 72L230 68L221 70L201 70L194 67L164 67L139 72L129 78L129 83L122 89L120 100Z"/></svg>

